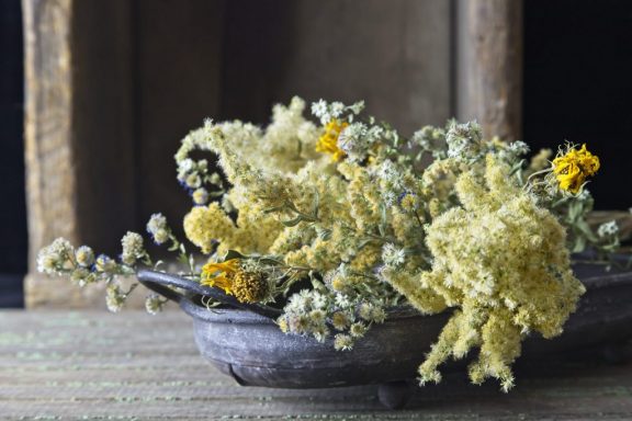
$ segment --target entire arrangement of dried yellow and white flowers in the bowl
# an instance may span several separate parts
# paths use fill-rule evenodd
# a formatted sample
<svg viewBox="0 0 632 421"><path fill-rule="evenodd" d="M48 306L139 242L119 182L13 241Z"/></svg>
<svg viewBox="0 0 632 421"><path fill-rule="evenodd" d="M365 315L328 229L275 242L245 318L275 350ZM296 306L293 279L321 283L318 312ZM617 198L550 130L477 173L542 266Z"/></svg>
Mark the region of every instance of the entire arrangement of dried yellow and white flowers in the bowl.
<svg viewBox="0 0 632 421"><path fill-rule="evenodd" d="M420 383L439 382L439 365L479 349L472 382L494 377L510 389L522 340L560 334L585 291L571 253L589 247L607 255L619 246L614 221L594 231L586 220L585 184L599 159L567 144L552 161L551 150L527 161L524 143L484 139L475 122L404 138L363 107L321 100L312 105L314 124L294 98L273 109L264 129L205 122L176 153L194 204L184 231L204 264L162 215L151 216L148 234L179 253L182 276L241 303L282 307L283 332L330 338L340 351L383 322L387 308L450 309ZM222 174L193 159L199 151L215 153ZM117 276L159 264L139 234L127 232L122 246L115 260L60 238L41 251L38 270L79 286L106 283L108 307L117 311L134 289ZM151 295L146 308L163 304Z"/></svg>

